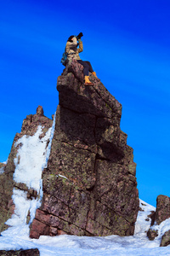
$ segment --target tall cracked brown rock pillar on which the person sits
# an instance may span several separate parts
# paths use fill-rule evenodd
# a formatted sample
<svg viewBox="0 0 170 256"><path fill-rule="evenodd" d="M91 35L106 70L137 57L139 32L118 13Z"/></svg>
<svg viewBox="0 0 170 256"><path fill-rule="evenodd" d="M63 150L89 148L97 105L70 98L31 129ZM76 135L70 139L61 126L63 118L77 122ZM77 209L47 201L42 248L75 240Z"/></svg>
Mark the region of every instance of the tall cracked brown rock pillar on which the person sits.
<svg viewBox="0 0 170 256"><path fill-rule="evenodd" d="M82 66L72 61L59 76L59 106L42 207L30 236L133 235L139 211L136 164L120 129L122 105Z"/></svg>

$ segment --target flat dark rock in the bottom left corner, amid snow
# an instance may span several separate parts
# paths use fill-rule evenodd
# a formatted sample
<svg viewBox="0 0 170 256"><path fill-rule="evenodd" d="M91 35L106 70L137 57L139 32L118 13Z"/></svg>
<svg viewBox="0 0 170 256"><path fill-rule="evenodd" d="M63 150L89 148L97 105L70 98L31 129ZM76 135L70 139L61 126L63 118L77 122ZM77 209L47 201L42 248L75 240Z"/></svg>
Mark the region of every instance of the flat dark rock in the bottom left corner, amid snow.
<svg viewBox="0 0 170 256"><path fill-rule="evenodd" d="M28 250L0 250L0 256L39 256L40 252L38 249L28 249Z"/></svg>

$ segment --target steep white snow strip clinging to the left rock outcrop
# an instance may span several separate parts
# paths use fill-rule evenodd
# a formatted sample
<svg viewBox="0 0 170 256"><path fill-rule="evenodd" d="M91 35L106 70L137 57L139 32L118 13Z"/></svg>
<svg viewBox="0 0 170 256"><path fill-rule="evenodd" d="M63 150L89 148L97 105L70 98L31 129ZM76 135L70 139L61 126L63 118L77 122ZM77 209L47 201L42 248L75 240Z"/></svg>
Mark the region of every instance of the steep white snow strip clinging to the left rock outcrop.
<svg viewBox="0 0 170 256"><path fill-rule="evenodd" d="M54 136L54 123L48 129L44 137L42 134L42 125L37 127L37 132L33 136L23 136L16 143L15 147L20 145L16 158L14 159L15 171L14 181L16 183L25 183L28 189L37 190L37 199L27 199L27 192L20 189L13 189L12 199L15 210L12 218L9 218L6 224L13 226L15 229L20 225L21 230L26 230L28 235L29 229L26 226L31 224L35 218L36 210L41 206L42 201L42 170L48 165L48 157L51 150L51 143ZM48 143L49 142L49 143ZM48 144L48 147L47 147ZM30 213L30 222L26 225L26 218ZM6 230L10 232L11 228ZM4 231L5 232L5 231ZM17 233L22 231L18 230Z"/></svg>

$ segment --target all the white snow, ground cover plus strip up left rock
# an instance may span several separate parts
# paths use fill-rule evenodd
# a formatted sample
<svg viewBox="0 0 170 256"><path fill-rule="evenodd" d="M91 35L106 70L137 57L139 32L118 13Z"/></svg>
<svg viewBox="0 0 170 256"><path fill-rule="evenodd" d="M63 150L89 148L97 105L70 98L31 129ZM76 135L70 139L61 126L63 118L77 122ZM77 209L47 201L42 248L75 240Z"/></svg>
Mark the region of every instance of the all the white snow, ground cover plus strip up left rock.
<svg viewBox="0 0 170 256"><path fill-rule="evenodd" d="M140 200L140 207L134 236L40 236L38 240L29 238L29 224L34 218L37 207L42 198L42 168L47 165L50 145L54 132L54 125L48 130L45 137L39 138L42 127L39 126L33 137L22 137L17 143L21 145L15 159L14 180L26 183L28 187L37 190L37 199L29 200L26 192L14 189L13 200L15 212L7 224L8 230L0 236L0 249L28 249L37 247L41 256L50 255L170 255L170 247L159 247L161 236L166 230L170 230L170 219L154 227L159 230L159 236L150 241L146 232L150 228L151 219L148 218L150 211L155 207ZM48 148L46 148L47 141ZM20 159L20 160L19 160ZM27 161L31 162L31 168ZM28 211L31 212L31 220L26 224Z"/></svg>

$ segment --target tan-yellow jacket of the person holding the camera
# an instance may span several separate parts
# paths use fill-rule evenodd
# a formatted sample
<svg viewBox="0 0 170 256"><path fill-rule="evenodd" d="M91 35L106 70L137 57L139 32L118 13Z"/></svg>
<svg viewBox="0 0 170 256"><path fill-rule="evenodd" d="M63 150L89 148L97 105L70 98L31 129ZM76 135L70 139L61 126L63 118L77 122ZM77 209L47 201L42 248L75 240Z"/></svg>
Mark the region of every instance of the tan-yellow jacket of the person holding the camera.
<svg viewBox="0 0 170 256"><path fill-rule="evenodd" d="M79 48L77 48L77 38L73 38L72 42L67 42L65 51L68 53L67 58L68 59L75 59L75 60L80 60L79 53L82 52L83 46L82 46L82 41L79 40Z"/></svg>

